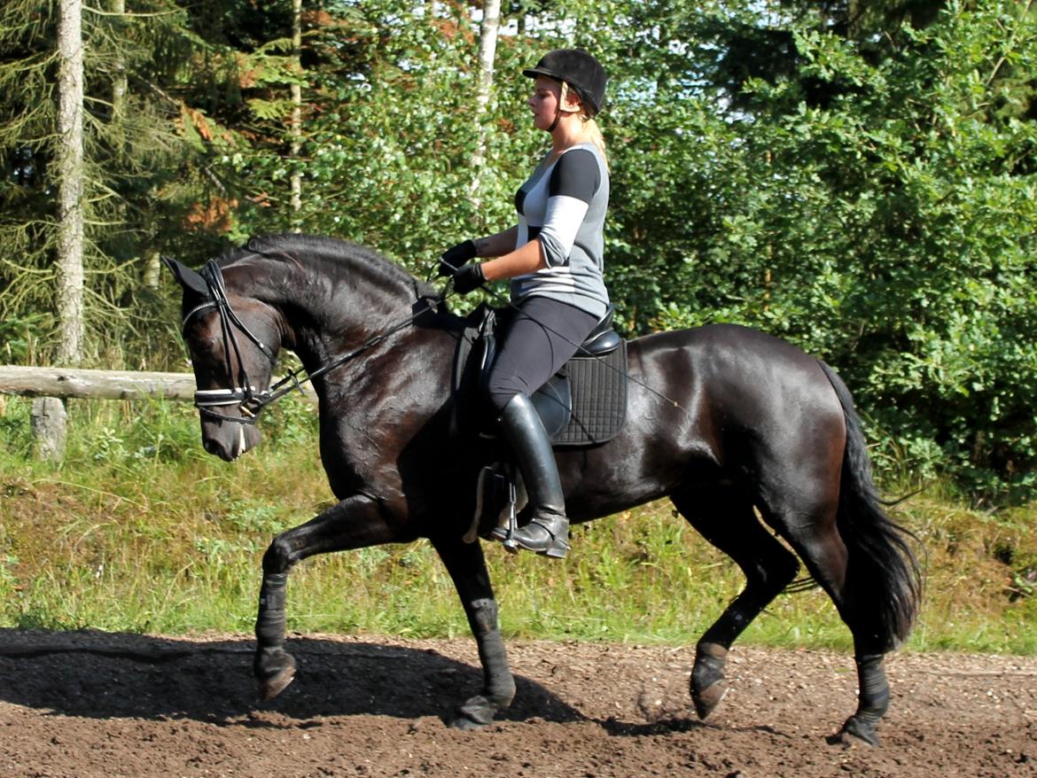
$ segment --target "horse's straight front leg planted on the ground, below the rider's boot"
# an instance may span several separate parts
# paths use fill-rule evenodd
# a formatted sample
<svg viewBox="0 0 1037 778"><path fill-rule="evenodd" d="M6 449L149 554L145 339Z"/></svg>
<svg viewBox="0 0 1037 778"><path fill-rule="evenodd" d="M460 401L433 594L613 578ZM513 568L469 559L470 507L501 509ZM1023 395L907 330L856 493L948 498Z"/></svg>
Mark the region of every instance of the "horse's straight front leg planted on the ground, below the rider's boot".
<svg viewBox="0 0 1037 778"><path fill-rule="evenodd" d="M478 543L466 544L459 536L431 538L460 595L469 627L482 664L482 694L468 699L451 722L459 729L474 729L494 720L511 704L515 683L497 623L497 601L489 583L486 560Z"/></svg>

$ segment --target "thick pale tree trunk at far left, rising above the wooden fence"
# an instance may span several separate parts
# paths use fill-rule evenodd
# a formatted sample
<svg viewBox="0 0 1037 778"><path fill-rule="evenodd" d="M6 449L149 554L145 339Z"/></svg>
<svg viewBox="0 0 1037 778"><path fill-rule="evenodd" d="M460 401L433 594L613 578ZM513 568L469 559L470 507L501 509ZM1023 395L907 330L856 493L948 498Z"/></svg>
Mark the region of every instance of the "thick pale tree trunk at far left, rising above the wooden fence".
<svg viewBox="0 0 1037 778"><path fill-rule="evenodd" d="M58 6L57 361L83 359L83 3Z"/></svg>

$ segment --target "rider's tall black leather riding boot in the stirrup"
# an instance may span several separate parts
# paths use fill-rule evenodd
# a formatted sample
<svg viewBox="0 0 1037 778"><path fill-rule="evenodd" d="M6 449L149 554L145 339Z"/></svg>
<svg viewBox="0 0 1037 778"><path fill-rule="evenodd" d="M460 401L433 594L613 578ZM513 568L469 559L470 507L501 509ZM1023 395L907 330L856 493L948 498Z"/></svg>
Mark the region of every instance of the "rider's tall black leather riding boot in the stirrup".
<svg viewBox="0 0 1037 778"><path fill-rule="evenodd" d="M508 400L501 422L533 506L533 519L515 530L514 540L527 551L561 559L569 550L569 520L565 518L565 496L548 433L525 394Z"/></svg>

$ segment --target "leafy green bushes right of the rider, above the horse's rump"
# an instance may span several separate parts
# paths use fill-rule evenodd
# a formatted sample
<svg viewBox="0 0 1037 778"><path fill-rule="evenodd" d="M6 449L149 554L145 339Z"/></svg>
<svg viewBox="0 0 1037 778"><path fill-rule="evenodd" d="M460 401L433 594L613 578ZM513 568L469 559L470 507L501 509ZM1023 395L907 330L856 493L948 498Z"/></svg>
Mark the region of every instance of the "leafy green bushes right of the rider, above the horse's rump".
<svg viewBox="0 0 1037 778"><path fill-rule="evenodd" d="M741 34L773 24L746 13ZM794 58L757 67L736 100L697 80L702 60L673 67L681 40L722 27L692 15L644 50L639 73L665 73L642 80L658 107L619 117L621 311L636 331L786 337L837 366L927 470L1033 494L1034 16L951 4L891 30L898 48L877 60L790 24Z"/></svg>

